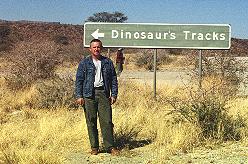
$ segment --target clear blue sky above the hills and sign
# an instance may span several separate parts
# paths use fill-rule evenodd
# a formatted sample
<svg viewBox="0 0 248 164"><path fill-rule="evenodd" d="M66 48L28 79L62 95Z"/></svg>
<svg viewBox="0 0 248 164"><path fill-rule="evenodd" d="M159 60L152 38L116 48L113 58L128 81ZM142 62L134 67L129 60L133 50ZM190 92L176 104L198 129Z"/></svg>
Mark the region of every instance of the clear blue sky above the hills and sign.
<svg viewBox="0 0 248 164"><path fill-rule="evenodd" d="M231 24L248 39L247 0L0 0L0 19L80 24L97 12L119 11L129 23Z"/></svg>

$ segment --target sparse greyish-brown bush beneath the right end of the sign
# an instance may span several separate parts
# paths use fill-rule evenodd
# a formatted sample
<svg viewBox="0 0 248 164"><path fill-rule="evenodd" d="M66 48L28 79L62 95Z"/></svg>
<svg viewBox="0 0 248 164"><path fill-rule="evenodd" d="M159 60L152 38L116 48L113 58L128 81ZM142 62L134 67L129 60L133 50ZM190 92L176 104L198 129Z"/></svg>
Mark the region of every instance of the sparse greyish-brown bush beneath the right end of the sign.
<svg viewBox="0 0 248 164"><path fill-rule="evenodd" d="M198 53L195 52L195 57ZM240 84L246 85L247 74L246 67L247 63L239 60L238 58L232 57L229 51L202 51L202 78L218 77L223 82L225 88L232 88L232 95L236 95ZM192 57L192 56L191 56ZM195 68L191 71L192 79L199 79L199 61L198 58L194 58L192 62L195 62Z"/></svg>

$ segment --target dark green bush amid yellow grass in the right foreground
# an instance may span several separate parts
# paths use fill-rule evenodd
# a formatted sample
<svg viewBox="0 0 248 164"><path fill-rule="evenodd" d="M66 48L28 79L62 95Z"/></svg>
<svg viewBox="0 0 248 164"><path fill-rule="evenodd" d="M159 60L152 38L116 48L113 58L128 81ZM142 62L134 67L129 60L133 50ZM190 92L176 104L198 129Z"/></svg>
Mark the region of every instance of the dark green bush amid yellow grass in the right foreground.
<svg viewBox="0 0 248 164"><path fill-rule="evenodd" d="M167 102L179 113L182 120L189 121L201 129L204 139L240 140L240 129L245 121L228 115L227 99L214 90L193 92L188 98L171 97Z"/></svg>

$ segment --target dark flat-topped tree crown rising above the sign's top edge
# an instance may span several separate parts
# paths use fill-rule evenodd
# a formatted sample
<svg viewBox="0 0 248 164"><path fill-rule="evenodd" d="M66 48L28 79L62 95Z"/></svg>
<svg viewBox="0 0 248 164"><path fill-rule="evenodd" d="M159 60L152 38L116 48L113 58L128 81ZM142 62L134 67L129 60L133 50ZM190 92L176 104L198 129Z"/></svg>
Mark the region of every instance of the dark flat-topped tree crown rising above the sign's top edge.
<svg viewBox="0 0 248 164"><path fill-rule="evenodd" d="M121 12L115 11L114 13L108 12L99 12L93 14L93 16L88 17L86 22L125 22L127 20L127 16L125 16Z"/></svg>

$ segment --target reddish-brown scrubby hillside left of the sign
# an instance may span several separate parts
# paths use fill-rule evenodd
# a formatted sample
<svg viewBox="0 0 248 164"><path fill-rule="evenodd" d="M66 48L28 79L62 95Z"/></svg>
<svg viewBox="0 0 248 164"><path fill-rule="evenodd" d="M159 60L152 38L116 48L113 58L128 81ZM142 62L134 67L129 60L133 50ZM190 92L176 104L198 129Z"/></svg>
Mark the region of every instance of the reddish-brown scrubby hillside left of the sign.
<svg viewBox="0 0 248 164"><path fill-rule="evenodd" d="M72 62L83 56L83 27L57 23L36 22L0 22L0 57L19 55L19 44L27 45L26 52L39 54L46 52L48 42L54 42L56 48L50 53L59 54L63 60ZM44 44L44 47L33 47L33 43ZM2 47L2 48L1 48ZM49 48L49 47L48 47Z"/></svg>

